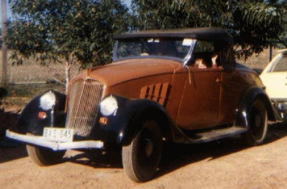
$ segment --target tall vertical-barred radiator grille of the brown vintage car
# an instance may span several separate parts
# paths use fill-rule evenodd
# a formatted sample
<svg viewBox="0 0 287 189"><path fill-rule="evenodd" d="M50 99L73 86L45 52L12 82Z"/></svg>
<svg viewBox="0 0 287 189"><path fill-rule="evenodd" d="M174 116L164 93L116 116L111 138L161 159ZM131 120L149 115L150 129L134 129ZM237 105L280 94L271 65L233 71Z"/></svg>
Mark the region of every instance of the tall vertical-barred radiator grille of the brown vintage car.
<svg viewBox="0 0 287 189"><path fill-rule="evenodd" d="M66 128L74 134L88 136L98 115L103 85L93 79L79 79L69 86Z"/></svg>

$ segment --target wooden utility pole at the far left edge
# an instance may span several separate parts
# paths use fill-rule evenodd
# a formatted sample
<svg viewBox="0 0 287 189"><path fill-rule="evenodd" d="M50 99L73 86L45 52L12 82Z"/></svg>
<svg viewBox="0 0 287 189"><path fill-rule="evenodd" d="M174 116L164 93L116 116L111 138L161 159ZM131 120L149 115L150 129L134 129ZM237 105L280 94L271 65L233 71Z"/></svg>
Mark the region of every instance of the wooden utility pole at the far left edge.
<svg viewBox="0 0 287 189"><path fill-rule="evenodd" d="M6 0L1 0L1 13L2 13L2 63L1 63L1 83L7 85L7 47L3 42L3 39L6 35L6 26L7 21L6 15Z"/></svg>

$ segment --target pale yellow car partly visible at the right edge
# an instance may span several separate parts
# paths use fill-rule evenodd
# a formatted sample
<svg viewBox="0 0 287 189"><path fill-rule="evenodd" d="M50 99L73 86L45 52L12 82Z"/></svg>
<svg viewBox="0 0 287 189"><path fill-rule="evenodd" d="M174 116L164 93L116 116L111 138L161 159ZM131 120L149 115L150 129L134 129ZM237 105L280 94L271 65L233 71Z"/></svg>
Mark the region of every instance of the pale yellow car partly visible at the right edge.
<svg viewBox="0 0 287 189"><path fill-rule="evenodd" d="M260 75L276 110L280 113L284 123L287 123L287 49L278 54L266 66Z"/></svg>

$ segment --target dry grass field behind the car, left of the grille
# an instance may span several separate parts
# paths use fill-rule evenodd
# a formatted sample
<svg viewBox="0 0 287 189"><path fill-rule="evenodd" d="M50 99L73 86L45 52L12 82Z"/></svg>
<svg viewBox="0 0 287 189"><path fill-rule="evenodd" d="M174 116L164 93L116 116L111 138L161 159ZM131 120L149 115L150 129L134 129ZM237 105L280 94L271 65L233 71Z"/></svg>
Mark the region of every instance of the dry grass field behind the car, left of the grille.
<svg viewBox="0 0 287 189"><path fill-rule="evenodd" d="M0 63L2 62L1 53L0 50ZM8 51L9 56L10 52ZM78 72L79 66L72 66L71 77ZM64 64L61 63L50 63L48 66L44 66L36 60L26 59L22 65L12 65L12 61L8 60L7 77L9 85L5 87L5 91L0 90L0 102L8 111L22 109L31 99L47 90L63 93L65 91L62 84L46 84L47 81L53 79L60 82L64 81ZM1 97L3 95L4 98Z"/></svg>

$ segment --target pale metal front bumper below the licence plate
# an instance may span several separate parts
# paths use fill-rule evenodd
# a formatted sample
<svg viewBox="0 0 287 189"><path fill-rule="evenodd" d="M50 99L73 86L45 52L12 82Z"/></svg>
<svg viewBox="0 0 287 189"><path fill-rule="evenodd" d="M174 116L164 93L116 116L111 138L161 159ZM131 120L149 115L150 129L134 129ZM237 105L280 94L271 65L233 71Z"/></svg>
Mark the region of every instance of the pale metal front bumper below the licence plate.
<svg viewBox="0 0 287 189"><path fill-rule="evenodd" d="M6 137L40 147L48 147L53 149L54 151L65 149L103 148L102 141L77 141L69 143L53 142L44 140L41 136L23 135L16 132L12 132L10 130L6 130Z"/></svg>

